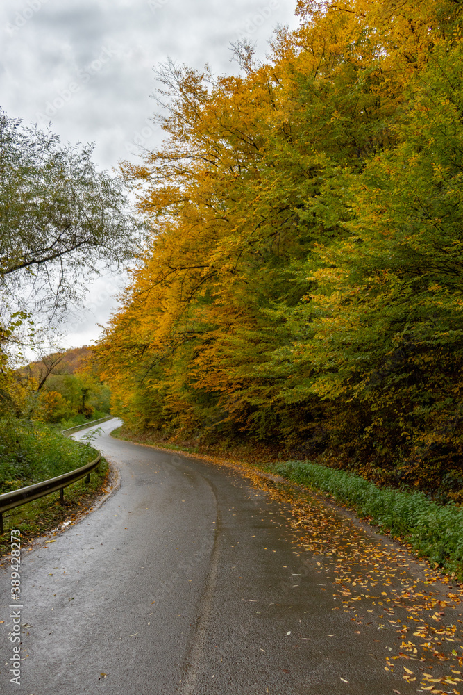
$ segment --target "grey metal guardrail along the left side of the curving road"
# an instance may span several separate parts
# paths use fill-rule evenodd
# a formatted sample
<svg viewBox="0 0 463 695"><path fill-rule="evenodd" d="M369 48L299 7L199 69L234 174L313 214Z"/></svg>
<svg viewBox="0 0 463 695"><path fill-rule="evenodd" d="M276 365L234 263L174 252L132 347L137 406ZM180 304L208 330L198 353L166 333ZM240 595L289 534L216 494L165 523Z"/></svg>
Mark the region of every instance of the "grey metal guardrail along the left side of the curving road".
<svg viewBox="0 0 463 695"><path fill-rule="evenodd" d="M89 425L106 419L107 418L100 418L99 420L93 420L93 422L87 423L85 426L88 427ZM78 427L82 427L82 425L78 425ZM75 427L68 427L67 430L62 430L62 432L64 434L64 432L75 429ZM81 480L81 478L85 476L87 476L87 482L90 482L90 473L94 471L100 461L101 454L93 461L90 461L90 463L81 466L81 468L76 468L74 471L69 471L69 473L63 473L63 475L58 475L49 480L37 482L35 485L28 485L19 490L13 490L12 492L6 492L0 495L0 534L3 533L4 512L8 512L10 509L15 509L15 507L20 507L21 505L26 505L28 502L33 502L33 500L38 500L40 497L45 497L58 490L60 491L60 504L63 504L65 487L71 485L73 482Z"/></svg>

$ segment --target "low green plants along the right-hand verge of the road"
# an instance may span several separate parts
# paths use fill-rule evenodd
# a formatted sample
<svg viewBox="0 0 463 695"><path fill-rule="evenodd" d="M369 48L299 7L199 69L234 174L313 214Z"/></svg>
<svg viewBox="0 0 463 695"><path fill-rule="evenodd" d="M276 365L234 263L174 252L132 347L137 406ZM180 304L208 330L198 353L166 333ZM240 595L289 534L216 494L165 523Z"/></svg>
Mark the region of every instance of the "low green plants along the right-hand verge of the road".
<svg viewBox="0 0 463 695"><path fill-rule="evenodd" d="M166 445L162 441L131 435L125 427L119 427L111 434L126 441L196 453L181 445ZM224 456L224 453L217 451L216 455ZM258 471L279 475L289 482L329 496L360 518L378 525L382 532L410 546L419 557L428 559L445 573L463 581L463 507L455 502L442 505L429 500L422 492L378 487L355 473L312 461L251 463L248 459L247 462Z"/></svg>

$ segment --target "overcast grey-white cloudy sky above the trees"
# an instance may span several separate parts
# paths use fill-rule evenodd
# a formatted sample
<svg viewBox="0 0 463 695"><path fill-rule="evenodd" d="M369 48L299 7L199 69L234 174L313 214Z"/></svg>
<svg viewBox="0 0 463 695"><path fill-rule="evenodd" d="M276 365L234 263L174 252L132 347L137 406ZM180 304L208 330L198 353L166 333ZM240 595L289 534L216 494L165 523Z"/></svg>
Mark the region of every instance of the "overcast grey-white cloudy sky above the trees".
<svg viewBox="0 0 463 695"><path fill-rule="evenodd" d="M213 72L237 72L230 42L257 42L264 60L277 24L296 26L295 0L1 0L0 106L26 124L53 124L67 142L95 142L104 168L152 147L153 67L169 56ZM88 344L117 306L124 281L104 277L67 346Z"/></svg>

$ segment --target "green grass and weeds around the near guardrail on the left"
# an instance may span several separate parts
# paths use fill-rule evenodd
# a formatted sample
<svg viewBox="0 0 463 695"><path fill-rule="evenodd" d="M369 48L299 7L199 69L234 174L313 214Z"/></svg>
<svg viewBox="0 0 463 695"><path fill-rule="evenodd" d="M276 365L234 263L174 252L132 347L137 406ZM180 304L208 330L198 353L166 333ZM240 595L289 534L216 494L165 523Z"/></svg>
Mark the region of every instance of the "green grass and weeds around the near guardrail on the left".
<svg viewBox="0 0 463 695"><path fill-rule="evenodd" d="M90 446L67 439L56 427L1 418L0 493L62 475L85 465L97 455ZM101 459L98 468L90 474L90 483L82 479L65 488L65 505L60 505L59 492L56 492L5 512L0 556L9 551L8 530L19 529L23 543L27 543L60 523L76 518L103 491L108 471L108 463Z"/></svg>

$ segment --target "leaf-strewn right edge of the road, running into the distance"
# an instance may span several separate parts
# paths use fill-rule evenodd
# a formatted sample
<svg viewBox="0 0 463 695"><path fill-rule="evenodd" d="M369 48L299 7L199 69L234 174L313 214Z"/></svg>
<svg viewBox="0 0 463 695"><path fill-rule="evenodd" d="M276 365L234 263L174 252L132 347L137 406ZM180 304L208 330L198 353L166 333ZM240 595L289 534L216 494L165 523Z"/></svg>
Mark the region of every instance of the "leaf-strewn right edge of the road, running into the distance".
<svg viewBox="0 0 463 695"><path fill-rule="evenodd" d="M123 436L136 441L127 430ZM306 568L316 565L323 578L320 590L332 589L332 610L352 622L352 639L369 630L372 640L385 641L385 670L399 672L404 681L405 689L395 692L463 694L463 584L455 577L417 561L412 546L378 536L316 493L286 482L275 475L276 466L183 450L182 455L239 473L282 503L295 541L288 590L294 578L304 581Z"/></svg>

